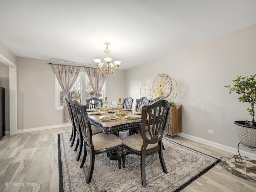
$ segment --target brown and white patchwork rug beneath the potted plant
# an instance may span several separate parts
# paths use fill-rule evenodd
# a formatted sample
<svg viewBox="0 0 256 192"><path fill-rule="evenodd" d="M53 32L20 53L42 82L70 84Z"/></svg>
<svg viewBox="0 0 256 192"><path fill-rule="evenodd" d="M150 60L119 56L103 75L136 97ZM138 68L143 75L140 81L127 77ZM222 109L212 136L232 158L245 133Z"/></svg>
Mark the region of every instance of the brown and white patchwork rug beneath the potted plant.
<svg viewBox="0 0 256 192"><path fill-rule="evenodd" d="M221 155L218 158L221 159L220 166L228 172L256 183L256 160L242 156L242 163L238 163L235 161L235 158L240 159L238 155Z"/></svg>

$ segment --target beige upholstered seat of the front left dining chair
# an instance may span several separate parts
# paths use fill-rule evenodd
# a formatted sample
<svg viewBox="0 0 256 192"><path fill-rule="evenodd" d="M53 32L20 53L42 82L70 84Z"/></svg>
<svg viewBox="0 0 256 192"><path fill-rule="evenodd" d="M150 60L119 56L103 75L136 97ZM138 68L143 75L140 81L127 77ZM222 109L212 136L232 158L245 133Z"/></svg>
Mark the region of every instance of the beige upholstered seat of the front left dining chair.
<svg viewBox="0 0 256 192"><path fill-rule="evenodd" d="M114 134L99 133L92 136L94 150L108 149L122 145L122 140Z"/></svg>

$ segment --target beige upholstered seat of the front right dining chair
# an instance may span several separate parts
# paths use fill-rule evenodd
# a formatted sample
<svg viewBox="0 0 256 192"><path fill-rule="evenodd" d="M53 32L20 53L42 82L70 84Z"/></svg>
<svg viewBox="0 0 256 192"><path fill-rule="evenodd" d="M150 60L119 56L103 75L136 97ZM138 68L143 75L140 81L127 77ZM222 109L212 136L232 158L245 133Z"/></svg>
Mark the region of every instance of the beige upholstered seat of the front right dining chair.
<svg viewBox="0 0 256 192"><path fill-rule="evenodd" d="M149 135L148 132L146 132L146 136L147 136L147 138L150 138L150 135ZM134 135L123 138L122 142L123 142L124 145L126 145L127 147L129 147L133 150L141 151L141 147L142 147L142 144L143 144L143 139L140 136L140 134L134 134ZM156 146L158 146L158 143L148 144L146 150L154 148Z"/></svg>

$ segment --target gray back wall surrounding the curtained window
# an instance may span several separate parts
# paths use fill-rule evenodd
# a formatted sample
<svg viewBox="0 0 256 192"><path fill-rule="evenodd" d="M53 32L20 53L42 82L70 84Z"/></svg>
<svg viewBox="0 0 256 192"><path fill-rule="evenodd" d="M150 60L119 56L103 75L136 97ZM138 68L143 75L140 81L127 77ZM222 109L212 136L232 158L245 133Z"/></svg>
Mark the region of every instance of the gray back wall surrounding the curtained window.
<svg viewBox="0 0 256 192"><path fill-rule="evenodd" d="M18 130L67 124L63 122L63 110L55 110L55 74L49 62L72 65L68 62L17 58ZM108 101L123 95L124 74L120 71L107 76Z"/></svg>

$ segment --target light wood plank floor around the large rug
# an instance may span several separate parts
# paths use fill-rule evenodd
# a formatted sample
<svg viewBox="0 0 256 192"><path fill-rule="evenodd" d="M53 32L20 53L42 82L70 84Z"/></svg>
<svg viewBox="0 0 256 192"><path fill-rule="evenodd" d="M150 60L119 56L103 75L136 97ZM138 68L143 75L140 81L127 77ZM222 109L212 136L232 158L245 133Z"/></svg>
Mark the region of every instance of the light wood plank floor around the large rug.
<svg viewBox="0 0 256 192"><path fill-rule="evenodd" d="M70 131L71 127L65 127L4 136L0 140L0 192L57 192L58 133ZM168 139L214 157L230 154L179 136ZM256 183L216 165L182 192L256 192Z"/></svg>

